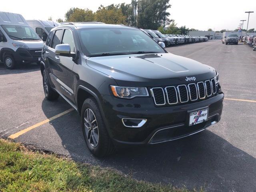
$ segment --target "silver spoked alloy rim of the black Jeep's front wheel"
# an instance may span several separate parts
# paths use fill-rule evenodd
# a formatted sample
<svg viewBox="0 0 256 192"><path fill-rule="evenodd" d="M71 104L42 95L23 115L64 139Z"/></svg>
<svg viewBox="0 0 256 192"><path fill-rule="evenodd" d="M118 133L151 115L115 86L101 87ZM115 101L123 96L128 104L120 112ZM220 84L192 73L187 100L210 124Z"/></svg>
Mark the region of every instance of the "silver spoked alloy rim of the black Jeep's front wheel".
<svg viewBox="0 0 256 192"><path fill-rule="evenodd" d="M92 147L98 145L99 133L96 116L91 109L86 109L84 112L84 130L86 138Z"/></svg>

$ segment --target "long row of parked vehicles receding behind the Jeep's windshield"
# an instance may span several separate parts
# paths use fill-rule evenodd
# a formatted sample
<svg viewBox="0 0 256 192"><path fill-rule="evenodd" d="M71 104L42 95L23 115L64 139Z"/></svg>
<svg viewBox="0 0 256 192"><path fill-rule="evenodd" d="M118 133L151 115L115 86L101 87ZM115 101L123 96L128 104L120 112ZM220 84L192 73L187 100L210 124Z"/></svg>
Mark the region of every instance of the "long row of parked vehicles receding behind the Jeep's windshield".
<svg viewBox="0 0 256 192"><path fill-rule="evenodd" d="M165 46L179 45L179 44L188 44L188 43L197 43L205 42L209 39L203 36L192 36L192 35L179 35L179 34L162 34L158 30L149 30L149 29L140 29L148 34L152 39L157 42L164 42Z"/></svg>

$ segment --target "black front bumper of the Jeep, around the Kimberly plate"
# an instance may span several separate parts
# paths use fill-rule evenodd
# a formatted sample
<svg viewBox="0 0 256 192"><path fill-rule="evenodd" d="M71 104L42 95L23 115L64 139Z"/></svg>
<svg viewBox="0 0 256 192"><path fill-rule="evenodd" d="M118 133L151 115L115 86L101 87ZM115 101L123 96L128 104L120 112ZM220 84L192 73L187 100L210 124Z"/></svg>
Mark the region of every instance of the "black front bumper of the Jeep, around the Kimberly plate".
<svg viewBox="0 0 256 192"><path fill-rule="evenodd" d="M102 95L108 132L114 144L153 144L194 134L220 120L224 94L177 106L156 107L152 98L119 99ZM208 121L187 126L188 111L209 107ZM122 118L146 119L140 128L124 126ZM161 131L160 131L161 130ZM162 131L165 130L165 131Z"/></svg>

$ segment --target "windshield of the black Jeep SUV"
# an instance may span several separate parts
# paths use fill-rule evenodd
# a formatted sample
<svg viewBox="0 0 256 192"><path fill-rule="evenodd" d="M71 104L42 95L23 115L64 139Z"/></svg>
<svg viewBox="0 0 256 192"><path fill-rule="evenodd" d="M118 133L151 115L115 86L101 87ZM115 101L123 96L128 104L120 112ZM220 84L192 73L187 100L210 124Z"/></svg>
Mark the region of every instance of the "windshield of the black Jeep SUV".
<svg viewBox="0 0 256 192"><path fill-rule="evenodd" d="M79 29L78 36L86 56L165 52L150 36L136 29L87 28Z"/></svg>

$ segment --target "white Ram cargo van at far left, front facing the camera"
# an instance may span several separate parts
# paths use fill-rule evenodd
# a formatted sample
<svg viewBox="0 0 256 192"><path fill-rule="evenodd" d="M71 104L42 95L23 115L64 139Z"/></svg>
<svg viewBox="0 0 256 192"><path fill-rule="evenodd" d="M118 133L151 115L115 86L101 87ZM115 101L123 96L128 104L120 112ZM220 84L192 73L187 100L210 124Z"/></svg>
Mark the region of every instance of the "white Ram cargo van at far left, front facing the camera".
<svg viewBox="0 0 256 192"><path fill-rule="evenodd" d="M0 12L0 61L8 69L25 62L40 63L44 42L20 14Z"/></svg>

